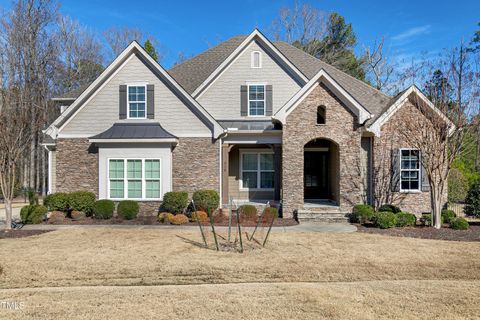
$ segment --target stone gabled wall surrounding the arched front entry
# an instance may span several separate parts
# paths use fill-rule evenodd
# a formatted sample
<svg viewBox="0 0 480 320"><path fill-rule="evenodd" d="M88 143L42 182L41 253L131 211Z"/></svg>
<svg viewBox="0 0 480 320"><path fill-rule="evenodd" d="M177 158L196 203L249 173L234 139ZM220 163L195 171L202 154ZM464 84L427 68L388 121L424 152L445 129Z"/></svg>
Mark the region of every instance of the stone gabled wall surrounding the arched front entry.
<svg viewBox="0 0 480 320"><path fill-rule="evenodd" d="M326 107L326 124L317 125L317 107ZM362 201L361 129L350 112L323 84L288 115L283 126L283 216L303 207L304 146L315 138L335 142L339 149L340 209L349 212ZM333 179L335 177L332 176Z"/></svg>

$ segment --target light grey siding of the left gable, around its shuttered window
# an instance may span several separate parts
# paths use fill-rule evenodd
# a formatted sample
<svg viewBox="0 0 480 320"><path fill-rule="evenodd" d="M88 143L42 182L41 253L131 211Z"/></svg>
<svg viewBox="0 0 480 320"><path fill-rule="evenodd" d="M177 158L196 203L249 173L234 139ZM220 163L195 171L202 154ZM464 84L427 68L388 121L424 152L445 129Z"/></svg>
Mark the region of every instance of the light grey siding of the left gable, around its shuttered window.
<svg viewBox="0 0 480 320"><path fill-rule="evenodd" d="M110 128L119 120L119 86L146 83L155 86L155 121L173 135L211 134L210 129L149 69L139 56L134 55L96 95L83 106L60 134L89 137ZM135 121L135 120L133 120Z"/></svg>

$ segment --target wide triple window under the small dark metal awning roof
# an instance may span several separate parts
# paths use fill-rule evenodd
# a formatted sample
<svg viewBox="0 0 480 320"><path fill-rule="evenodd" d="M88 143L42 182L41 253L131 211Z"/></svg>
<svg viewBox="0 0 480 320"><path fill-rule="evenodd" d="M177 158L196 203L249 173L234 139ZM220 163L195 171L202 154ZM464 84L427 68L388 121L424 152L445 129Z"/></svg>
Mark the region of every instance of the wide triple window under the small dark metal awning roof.
<svg viewBox="0 0 480 320"><path fill-rule="evenodd" d="M160 199L160 159L110 159L109 198Z"/></svg>

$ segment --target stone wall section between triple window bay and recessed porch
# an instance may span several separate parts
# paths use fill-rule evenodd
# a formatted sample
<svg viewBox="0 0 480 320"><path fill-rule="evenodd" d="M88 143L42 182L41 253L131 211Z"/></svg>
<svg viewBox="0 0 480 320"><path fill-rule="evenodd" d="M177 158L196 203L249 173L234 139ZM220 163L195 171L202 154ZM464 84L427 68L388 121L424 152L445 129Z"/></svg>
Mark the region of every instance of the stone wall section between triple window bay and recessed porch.
<svg viewBox="0 0 480 320"><path fill-rule="evenodd" d="M173 149L173 191L198 189L220 192L219 142L211 138L180 138Z"/></svg>

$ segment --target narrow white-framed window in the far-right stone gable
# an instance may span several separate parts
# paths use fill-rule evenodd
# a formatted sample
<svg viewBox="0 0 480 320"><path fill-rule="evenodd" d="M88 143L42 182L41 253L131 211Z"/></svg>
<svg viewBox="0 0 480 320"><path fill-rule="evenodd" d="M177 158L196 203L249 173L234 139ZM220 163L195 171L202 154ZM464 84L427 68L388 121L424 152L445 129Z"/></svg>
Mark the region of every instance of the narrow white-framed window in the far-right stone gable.
<svg viewBox="0 0 480 320"><path fill-rule="evenodd" d="M420 190L420 151L400 149L400 191Z"/></svg>

